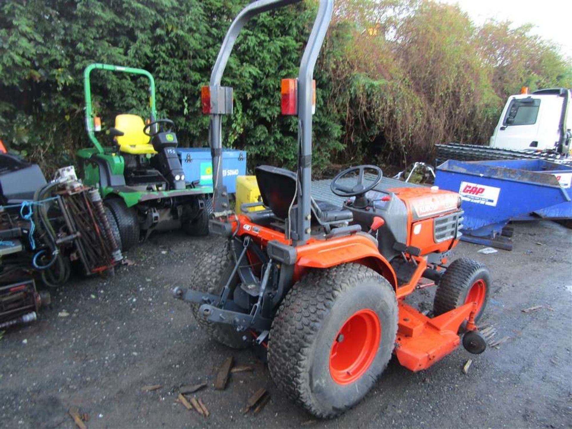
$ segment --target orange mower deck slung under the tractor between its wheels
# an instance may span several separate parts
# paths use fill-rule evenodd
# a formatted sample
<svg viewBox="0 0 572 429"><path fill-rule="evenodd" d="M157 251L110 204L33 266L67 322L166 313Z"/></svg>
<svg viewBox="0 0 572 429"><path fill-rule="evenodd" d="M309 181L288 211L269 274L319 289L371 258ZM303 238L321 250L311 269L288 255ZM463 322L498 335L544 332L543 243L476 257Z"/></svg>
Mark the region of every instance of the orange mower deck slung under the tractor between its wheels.
<svg viewBox="0 0 572 429"><path fill-rule="evenodd" d="M460 344L459 327L475 307L474 302L463 304L430 319L400 301L395 346L399 363L411 371L421 371L454 351Z"/></svg>

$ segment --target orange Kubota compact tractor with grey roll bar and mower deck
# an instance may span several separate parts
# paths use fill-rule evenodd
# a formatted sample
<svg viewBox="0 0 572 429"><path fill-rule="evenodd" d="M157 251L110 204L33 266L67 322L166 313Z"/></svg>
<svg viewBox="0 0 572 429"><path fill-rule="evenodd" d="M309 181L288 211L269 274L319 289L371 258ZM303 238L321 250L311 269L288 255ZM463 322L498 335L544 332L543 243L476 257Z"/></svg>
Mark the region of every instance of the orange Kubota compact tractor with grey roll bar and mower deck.
<svg viewBox="0 0 572 429"><path fill-rule="evenodd" d="M244 24L295 2L245 7L202 88L215 169L209 226L227 240L201 260L192 288L174 295L192 303L194 317L217 341L267 352L277 386L312 414L331 417L366 395L392 353L419 371L454 351L460 335L468 351L483 352L475 322L490 276L468 259L445 267L463 213L454 192L375 190L382 170L362 165L332 181L332 192L348 198L343 206L312 198L312 74L332 15L329 1L319 3L298 78L282 82L283 113L299 120L297 171L257 167L263 209L232 212L221 171L221 118L232 113L232 88L221 86L221 77ZM432 317L404 302L428 284L436 286Z"/></svg>

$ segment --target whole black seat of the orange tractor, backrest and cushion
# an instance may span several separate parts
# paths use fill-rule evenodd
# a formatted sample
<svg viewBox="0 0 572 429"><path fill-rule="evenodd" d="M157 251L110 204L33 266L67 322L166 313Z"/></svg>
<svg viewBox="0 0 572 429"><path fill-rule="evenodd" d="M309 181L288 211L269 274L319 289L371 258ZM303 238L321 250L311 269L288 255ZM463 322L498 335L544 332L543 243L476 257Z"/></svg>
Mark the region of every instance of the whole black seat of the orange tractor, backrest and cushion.
<svg viewBox="0 0 572 429"><path fill-rule="evenodd" d="M255 174L264 205L271 209L279 219L287 219L288 208L296 193L296 174L290 170L270 165L257 166ZM342 209L325 201L314 202L315 204L312 204L312 220L320 224L352 220L352 212L347 209Z"/></svg>

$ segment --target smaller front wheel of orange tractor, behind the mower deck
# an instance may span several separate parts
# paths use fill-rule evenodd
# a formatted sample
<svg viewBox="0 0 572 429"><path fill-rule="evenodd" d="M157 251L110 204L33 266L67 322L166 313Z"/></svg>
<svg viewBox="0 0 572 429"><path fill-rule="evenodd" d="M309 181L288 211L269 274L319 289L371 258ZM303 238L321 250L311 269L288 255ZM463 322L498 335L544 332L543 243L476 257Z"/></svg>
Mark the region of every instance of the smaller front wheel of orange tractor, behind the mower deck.
<svg viewBox="0 0 572 429"><path fill-rule="evenodd" d="M465 258L454 260L447 267L435 292L435 316L476 301L478 311L475 321L478 321L487 307L490 285L491 276L484 264Z"/></svg>

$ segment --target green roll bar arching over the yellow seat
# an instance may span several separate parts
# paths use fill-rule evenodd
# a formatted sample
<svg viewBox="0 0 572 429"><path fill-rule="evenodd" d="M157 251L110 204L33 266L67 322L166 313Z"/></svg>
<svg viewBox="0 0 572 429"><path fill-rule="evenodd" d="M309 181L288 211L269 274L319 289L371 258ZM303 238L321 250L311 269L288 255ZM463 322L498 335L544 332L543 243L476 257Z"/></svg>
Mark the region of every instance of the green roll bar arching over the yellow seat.
<svg viewBox="0 0 572 429"><path fill-rule="evenodd" d="M114 66L110 64L95 63L85 67L84 70L84 94L85 94L85 129L88 132L89 140L99 153L104 153L104 148L97 140L94 133L93 112L92 112L92 87L89 82L89 75L93 69L109 70L110 72L122 72L131 74L141 74L149 79L149 105L151 108L151 121L157 117L157 108L155 106L155 80L151 73L144 69L134 69L133 67Z"/></svg>

